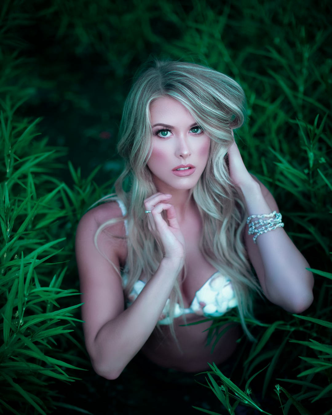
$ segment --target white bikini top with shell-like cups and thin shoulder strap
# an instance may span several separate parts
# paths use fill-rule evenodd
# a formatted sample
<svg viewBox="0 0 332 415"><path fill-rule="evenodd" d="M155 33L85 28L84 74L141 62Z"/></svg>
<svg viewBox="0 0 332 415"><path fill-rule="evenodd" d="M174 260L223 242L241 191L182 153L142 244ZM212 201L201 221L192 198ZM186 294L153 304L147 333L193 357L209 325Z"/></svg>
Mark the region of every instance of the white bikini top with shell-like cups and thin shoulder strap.
<svg viewBox="0 0 332 415"><path fill-rule="evenodd" d="M122 215L126 215L125 205L121 200L117 200ZM125 220L126 234L128 235L128 224ZM122 273L122 286L126 287L128 282L128 267ZM139 293L143 290L146 283L138 280L134 283L131 293L126 301L127 307L132 305ZM168 316L170 300L166 301L164 310L159 317L157 324L171 324L171 318ZM174 317L180 317L183 314L204 315L205 317L220 317L231 308L237 307L237 299L233 291L232 283L229 277L222 275L219 271L215 272L206 283L195 293L195 297L189 308L183 308L178 303L175 305Z"/></svg>

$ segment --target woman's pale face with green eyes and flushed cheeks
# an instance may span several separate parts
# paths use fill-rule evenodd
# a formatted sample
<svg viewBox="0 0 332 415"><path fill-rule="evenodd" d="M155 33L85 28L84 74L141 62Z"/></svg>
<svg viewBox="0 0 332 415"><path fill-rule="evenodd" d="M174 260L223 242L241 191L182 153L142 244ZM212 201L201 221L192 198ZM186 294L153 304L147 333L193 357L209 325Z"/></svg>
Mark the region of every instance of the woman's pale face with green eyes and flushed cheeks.
<svg viewBox="0 0 332 415"><path fill-rule="evenodd" d="M151 104L150 120L152 154L147 166L156 188L162 192L193 188L206 166L210 137L190 112L171 97L158 98ZM193 165L195 170L189 176L176 176L173 169L181 164Z"/></svg>

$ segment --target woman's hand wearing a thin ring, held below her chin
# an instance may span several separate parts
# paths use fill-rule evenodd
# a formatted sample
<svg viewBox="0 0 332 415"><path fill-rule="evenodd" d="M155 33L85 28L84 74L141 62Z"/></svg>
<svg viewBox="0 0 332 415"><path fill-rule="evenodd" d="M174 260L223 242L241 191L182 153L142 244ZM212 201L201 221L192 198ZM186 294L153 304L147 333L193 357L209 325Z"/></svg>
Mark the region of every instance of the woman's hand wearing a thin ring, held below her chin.
<svg viewBox="0 0 332 415"><path fill-rule="evenodd" d="M166 203L172 195L155 193L144 200L145 210L151 210L148 215L148 227L155 239L163 245L164 257L171 259L184 259L185 240L178 224L175 207ZM166 210L167 220L161 216L161 212Z"/></svg>

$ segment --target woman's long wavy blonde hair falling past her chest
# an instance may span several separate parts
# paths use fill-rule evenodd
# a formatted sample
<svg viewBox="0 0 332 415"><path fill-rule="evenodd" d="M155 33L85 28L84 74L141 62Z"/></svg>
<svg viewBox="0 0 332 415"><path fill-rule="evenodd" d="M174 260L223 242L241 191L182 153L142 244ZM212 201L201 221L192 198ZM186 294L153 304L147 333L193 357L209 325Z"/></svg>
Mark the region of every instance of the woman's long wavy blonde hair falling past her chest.
<svg viewBox="0 0 332 415"><path fill-rule="evenodd" d="M117 144L125 168L115 181L116 193L103 198L103 201L120 199L127 215L108 220L99 227L95 235L96 247L100 232L128 220L126 297L142 273L147 281L154 275L163 258L159 242L148 229L143 202L157 192L146 166L152 152L149 107L154 100L165 96L184 105L211 139L207 166L189 195L189 198L193 196L203 220L199 248L212 266L231 278L242 327L252 338L244 317L253 317L253 295L261 288L251 272L244 248L247 218L244 203L229 178L225 160L229 146L234 142L232 129L244 123L245 96L240 85L229 76L195 63L156 59L138 71L125 101ZM102 254L107 258L105 253ZM181 273L170 295L172 321L175 304L183 306L180 276ZM170 329L175 337L173 324Z"/></svg>

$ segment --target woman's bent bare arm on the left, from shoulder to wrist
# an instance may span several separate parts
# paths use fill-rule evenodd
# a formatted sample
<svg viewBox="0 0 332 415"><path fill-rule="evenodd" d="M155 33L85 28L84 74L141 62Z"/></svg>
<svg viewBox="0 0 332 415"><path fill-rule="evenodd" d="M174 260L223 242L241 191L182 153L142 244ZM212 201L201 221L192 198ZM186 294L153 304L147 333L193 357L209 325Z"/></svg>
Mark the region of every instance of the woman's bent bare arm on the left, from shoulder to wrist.
<svg viewBox="0 0 332 415"><path fill-rule="evenodd" d="M94 370L107 379L117 378L149 338L183 266L181 258L163 258L154 276L125 310L121 279L94 244L100 223L116 217L117 207L107 203L90 210L76 232L85 344ZM112 226L110 232L121 235L121 226L123 222ZM119 239L110 239L102 232L98 246L120 271Z"/></svg>

